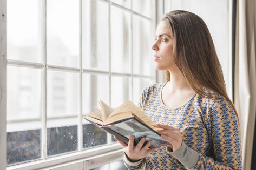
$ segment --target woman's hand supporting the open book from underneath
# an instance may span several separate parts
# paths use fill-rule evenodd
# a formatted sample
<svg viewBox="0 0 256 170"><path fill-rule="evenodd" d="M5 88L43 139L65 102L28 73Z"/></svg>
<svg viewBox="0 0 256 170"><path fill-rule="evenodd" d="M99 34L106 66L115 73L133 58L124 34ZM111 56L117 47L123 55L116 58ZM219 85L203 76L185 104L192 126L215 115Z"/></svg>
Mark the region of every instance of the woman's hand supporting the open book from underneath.
<svg viewBox="0 0 256 170"><path fill-rule="evenodd" d="M157 147L149 148L150 145L152 144L152 141L148 141L145 146L143 146L144 142L146 141L146 138L141 138L139 143L134 146L134 136L131 135L128 145L124 143L122 140L119 138L115 137L114 138L119 142L119 144L122 145L124 152L128 156L130 161L136 162L139 161L142 158L145 158L148 154L152 153L155 151Z"/></svg>

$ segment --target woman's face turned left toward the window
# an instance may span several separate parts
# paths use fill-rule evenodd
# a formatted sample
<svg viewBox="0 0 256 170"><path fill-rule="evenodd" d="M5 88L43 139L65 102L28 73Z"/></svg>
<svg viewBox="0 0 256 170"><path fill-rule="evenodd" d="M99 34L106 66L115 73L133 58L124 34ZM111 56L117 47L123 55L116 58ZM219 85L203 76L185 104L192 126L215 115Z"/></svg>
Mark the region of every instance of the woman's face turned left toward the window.
<svg viewBox="0 0 256 170"><path fill-rule="evenodd" d="M154 60L157 70L172 70L176 67L173 59L173 39L165 21L156 28L156 40L152 46L155 52Z"/></svg>

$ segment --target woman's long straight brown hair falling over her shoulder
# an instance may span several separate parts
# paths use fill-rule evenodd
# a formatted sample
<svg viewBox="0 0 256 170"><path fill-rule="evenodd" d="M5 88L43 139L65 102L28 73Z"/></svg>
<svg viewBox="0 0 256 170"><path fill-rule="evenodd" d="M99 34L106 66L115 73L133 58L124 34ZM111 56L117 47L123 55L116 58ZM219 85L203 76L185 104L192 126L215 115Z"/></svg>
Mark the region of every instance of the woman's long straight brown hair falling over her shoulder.
<svg viewBox="0 0 256 170"><path fill-rule="evenodd" d="M182 10L166 13L161 21L166 22L173 38L174 62L192 89L204 97L224 97L238 117L234 104L227 95L221 65L205 22L194 13ZM169 81L168 70L165 75ZM212 95L205 88L219 95Z"/></svg>

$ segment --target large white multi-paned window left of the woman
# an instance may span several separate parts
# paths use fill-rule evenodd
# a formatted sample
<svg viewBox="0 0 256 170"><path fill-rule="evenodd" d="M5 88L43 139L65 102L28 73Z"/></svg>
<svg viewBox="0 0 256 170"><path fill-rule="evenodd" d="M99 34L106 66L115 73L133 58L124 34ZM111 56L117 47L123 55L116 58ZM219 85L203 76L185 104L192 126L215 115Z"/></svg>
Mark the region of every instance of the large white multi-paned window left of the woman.
<svg viewBox="0 0 256 170"><path fill-rule="evenodd" d="M121 147L111 135L83 116L99 99L112 107L136 104L155 81L154 6L151 0L7 1L9 169L116 154Z"/></svg>

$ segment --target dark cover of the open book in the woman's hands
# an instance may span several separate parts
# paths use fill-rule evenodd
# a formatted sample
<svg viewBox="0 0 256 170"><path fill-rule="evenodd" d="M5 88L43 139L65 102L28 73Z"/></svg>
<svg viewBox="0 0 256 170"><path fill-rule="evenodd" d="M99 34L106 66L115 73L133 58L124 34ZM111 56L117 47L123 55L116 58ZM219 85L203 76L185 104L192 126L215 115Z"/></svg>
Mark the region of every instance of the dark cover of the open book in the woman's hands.
<svg viewBox="0 0 256 170"><path fill-rule="evenodd" d="M86 118L85 118L86 119ZM88 119L86 119L88 120ZM147 144L148 141L152 141L152 145L154 146L162 146L168 145L169 143L160 137L160 134L154 131L152 128L143 124L136 117L130 117L128 119L123 119L120 121L115 121L109 125L101 126L93 121L88 120L90 123L94 124L102 128L102 130L115 135L117 138L128 144L130 135L134 135L134 145L140 141L141 138L146 138L144 145Z"/></svg>

